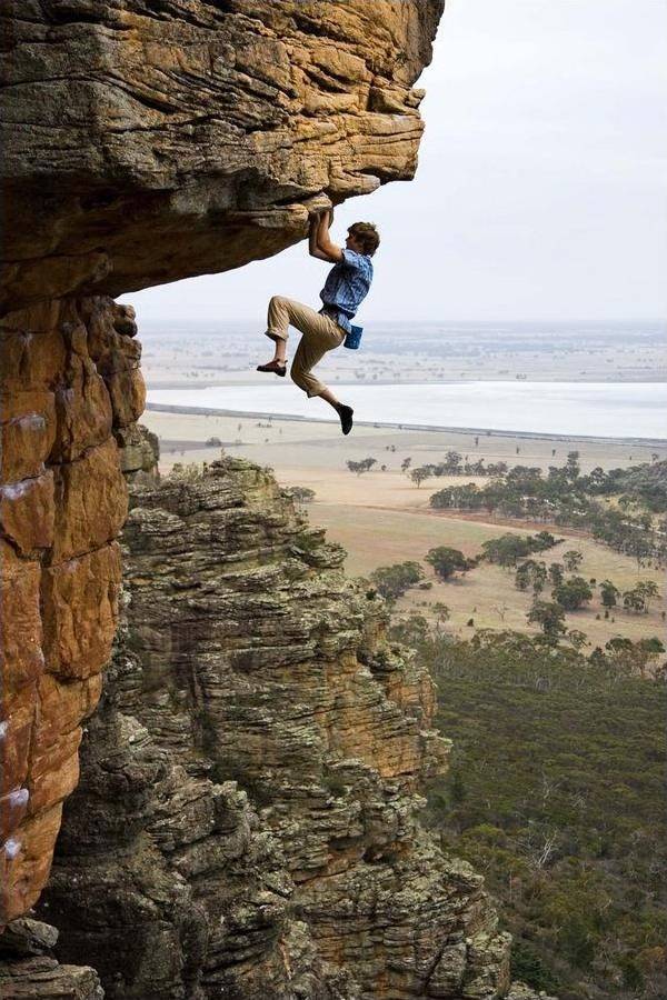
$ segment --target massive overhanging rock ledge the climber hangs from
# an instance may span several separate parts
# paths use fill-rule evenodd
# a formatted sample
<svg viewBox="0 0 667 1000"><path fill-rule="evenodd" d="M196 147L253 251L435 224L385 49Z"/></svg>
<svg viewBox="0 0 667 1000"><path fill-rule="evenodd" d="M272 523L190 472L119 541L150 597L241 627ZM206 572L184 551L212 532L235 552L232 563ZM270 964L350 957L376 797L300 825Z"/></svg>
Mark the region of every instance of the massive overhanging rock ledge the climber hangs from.
<svg viewBox="0 0 667 1000"><path fill-rule="evenodd" d="M7 0L3 308L237 268L412 177L444 0Z"/></svg>

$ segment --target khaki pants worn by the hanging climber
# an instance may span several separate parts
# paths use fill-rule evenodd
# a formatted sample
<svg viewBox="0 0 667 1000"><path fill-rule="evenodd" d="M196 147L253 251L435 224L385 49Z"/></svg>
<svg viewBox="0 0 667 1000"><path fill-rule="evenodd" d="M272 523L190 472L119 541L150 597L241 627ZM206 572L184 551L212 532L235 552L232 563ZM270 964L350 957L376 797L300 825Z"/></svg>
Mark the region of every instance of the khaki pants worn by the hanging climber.
<svg viewBox="0 0 667 1000"><path fill-rule="evenodd" d="M291 379L308 396L321 396L327 387L315 378L311 369L327 351L340 347L346 331L330 316L321 316L315 309L302 306L293 299L273 296L269 302L267 337L271 340L287 340L290 323L302 334L291 363Z"/></svg>

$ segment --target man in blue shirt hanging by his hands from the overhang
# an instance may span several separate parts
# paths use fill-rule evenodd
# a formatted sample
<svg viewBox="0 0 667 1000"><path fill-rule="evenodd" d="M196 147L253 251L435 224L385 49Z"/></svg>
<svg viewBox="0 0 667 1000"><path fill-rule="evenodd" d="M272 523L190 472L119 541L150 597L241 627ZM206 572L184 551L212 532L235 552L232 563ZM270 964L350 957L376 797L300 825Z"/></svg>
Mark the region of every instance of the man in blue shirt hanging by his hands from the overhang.
<svg viewBox="0 0 667 1000"><path fill-rule="evenodd" d="M292 381L309 397L319 396L334 407L340 418L342 433L349 434L355 411L339 402L331 390L315 378L312 369L327 351L340 347L350 332L350 320L368 294L372 281L370 258L380 244L380 237L371 222L355 222L348 229L342 250L329 238L332 221L332 209L315 213L310 218L310 256L335 264L320 292L322 308L316 312L293 299L273 296L269 302L266 333L275 341L276 351L271 361L258 364L257 370L285 376L288 326L291 323L301 332L301 341L290 371Z"/></svg>

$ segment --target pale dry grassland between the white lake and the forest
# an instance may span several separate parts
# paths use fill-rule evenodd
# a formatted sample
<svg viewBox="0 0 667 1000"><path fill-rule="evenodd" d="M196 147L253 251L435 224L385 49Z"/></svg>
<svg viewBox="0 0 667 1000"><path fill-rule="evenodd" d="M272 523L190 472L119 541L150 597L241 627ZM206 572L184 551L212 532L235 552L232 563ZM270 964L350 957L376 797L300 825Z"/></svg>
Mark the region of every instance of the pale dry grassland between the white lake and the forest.
<svg viewBox="0 0 667 1000"><path fill-rule="evenodd" d="M567 452L580 452L584 470L594 466L614 468L650 461L655 447L613 441L577 441L548 438L512 438L497 434L480 437L445 431L398 431L386 428L356 428L350 438L342 438L338 428L329 423L253 420L247 417L202 417L148 411L145 422L161 436L163 444L161 468L168 471L176 462L211 461L219 448L205 448L202 442L216 436L230 454L246 457L275 469L283 486L305 486L315 490L316 501L309 507L313 524L327 528L328 537L348 551L348 572L368 574L378 566L407 559L424 560L434 546L451 546L466 556L476 556L481 543L506 531L526 533L545 526L507 526L488 520L452 517L432 511L429 497L449 483L475 480L474 477L442 477L427 480L417 489L400 471L405 458L412 466L435 462L448 449L469 454L471 460L484 457L486 462L504 460L510 466L525 463L547 468L563 464ZM240 441L241 443L235 443ZM517 449L519 452L517 454ZM552 454L554 450L556 454ZM372 457L375 469L364 476L347 470L348 459ZM385 464L386 471L380 471ZM544 554L547 563L559 561L564 551L577 549L584 554L579 570L586 579L610 579L621 590L639 579L654 579L663 588L658 570L637 570L635 560L597 544L577 532L559 531L567 541ZM437 601L451 609L449 628L461 636L470 634L470 618L476 628L520 629L534 632L526 621L530 596L516 590L514 573L496 566L484 564L466 577L450 583L438 582L426 567L430 590L414 590L398 604L400 612L417 610L429 617L429 607ZM548 599L548 591L542 597ZM597 620L603 613L599 602L586 610L567 616L568 629L579 629L594 646L604 644L614 636L640 639L660 636L664 622L660 607L650 614L628 614L618 611L616 620Z"/></svg>

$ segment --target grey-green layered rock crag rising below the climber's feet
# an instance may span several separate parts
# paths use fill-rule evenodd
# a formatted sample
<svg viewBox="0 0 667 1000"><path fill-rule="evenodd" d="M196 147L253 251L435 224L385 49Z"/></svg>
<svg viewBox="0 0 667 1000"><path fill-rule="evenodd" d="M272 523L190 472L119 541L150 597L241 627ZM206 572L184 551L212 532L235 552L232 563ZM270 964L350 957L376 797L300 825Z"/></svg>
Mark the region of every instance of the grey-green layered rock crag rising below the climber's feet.
<svg viewBox="0 0 667 1000"><path fill-rule="evenodd" d="M448 744L270 473L133 491L127 628L89 723L44 918L108 997L498 997L481 879L420 829Z"/></svg>

